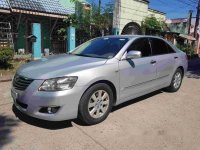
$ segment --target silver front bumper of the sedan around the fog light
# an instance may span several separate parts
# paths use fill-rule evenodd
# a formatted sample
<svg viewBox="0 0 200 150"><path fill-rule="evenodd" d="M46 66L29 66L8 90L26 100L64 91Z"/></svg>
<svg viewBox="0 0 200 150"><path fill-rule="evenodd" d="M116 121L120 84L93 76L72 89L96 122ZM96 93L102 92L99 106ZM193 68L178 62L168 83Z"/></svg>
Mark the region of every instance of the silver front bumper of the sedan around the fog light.
<svg viewBox="0 0 200 150"><path fill-rule="evenodd" d="M48 121L77 118L79 101L86 87L74 87L71 90L59 92L38 91L42 83L43 80L34 80L25 91L12 87L11 95L16 108L29 116ZM27 107L22 107L19 103ZM51 106L59 106L60 109L55 114L39 112L42 107Z"/></svg>

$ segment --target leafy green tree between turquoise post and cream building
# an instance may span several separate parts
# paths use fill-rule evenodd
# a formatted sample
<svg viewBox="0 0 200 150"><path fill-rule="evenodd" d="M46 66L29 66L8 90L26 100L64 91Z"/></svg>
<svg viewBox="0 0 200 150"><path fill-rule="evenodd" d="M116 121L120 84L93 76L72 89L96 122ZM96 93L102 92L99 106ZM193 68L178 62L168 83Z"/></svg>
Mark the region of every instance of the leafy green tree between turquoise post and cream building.
<svg viewBox="0 0 200 150"><path fill-rule="evenodd" d="M79 0L71 0L76 3L76 9L78 12L73 15L68 15L63 22L67 26L74 26L76 28L77 45L98 37L104 36L105 33L109 33L112 27L112 11L113 5L105 5L101 7L101 13L99 13L99 6L92 4L91 9L88 11L81 9L82 3ZM66 29L61 28L58 33L66 36Z"/></svg>

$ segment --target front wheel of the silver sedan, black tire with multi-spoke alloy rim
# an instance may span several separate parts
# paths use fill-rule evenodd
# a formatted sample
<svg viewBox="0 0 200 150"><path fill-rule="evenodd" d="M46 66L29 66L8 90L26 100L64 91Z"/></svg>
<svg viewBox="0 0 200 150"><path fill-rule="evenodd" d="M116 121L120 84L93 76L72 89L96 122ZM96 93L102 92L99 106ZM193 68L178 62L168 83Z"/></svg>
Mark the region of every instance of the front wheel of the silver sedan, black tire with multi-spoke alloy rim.
<svg viewBox="0 0 200 150"><path fill-rule="evenodd" d="M94 125L104 121L112 109L113 98L112 89L107 84L93 85L80 100L78 118L86 125Z"/></svg>

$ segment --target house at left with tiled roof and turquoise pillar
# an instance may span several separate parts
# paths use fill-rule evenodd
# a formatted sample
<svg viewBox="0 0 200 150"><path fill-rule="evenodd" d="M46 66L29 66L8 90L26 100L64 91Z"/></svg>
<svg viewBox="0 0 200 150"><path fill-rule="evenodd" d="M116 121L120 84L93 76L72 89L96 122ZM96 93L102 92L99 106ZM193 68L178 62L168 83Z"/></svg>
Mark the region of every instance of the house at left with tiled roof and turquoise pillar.
<svg viewBox="0 0 200 150"><path fill-rule="evenodd" d="M15 52L28 54L34 53L33 43L37 41L41 52L65 52L66 40L57 31L66 26L63 18L75 8L64 4L65 0L1 0L0 47L10 46Z"/></svg>

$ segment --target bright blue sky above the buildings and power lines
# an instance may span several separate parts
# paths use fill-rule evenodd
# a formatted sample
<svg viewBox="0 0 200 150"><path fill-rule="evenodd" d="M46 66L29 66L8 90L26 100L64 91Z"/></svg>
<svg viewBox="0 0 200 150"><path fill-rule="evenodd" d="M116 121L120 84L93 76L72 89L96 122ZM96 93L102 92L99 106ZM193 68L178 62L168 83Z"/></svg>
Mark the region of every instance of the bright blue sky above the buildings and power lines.
<svg viewBox="0 0 200 150"><path fill-rule="evenodd" d="M98 2L98 0L89 0ZM109 3L112 0L102 0L102 3ZM149 0L149 7L166 13L167 18L187 18L188 11L193 10L193 17L196 16L197 0Z"/></svg>

